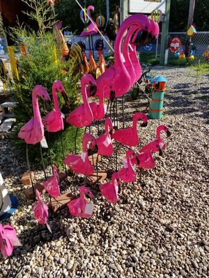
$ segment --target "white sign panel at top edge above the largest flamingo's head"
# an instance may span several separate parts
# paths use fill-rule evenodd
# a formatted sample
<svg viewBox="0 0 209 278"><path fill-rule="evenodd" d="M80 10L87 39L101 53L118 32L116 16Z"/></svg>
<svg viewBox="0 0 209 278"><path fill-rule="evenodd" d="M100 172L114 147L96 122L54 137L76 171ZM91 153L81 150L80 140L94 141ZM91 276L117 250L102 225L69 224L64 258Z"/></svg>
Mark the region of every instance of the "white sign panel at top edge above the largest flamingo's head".
<svg viewBox="0 0 209 278"><path fill-rule="evenodd" d="M167 0L129 0L129 13L152 13L153 10L161 10L165 13Z"/></svg>

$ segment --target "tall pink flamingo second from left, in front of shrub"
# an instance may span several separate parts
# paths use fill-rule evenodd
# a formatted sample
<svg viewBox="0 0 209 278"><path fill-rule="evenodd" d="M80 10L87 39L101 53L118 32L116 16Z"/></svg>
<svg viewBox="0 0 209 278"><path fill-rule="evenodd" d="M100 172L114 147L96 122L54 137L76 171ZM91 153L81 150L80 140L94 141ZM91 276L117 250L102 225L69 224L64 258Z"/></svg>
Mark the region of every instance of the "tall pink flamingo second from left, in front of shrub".
<svg viewBox="0 0 209 278"><path fill-rule="evenodd" d="M63 98L65 99L65 103L69 106L68 96L66 95L63 84L59 80L54 81L52 85L54 108L52 109L52 111L49 112L49 114L42 122L46 126L48 132L56 132L64 129L63 117L59 108L59 101L56 95L56 91L61 92Z"/></svg>

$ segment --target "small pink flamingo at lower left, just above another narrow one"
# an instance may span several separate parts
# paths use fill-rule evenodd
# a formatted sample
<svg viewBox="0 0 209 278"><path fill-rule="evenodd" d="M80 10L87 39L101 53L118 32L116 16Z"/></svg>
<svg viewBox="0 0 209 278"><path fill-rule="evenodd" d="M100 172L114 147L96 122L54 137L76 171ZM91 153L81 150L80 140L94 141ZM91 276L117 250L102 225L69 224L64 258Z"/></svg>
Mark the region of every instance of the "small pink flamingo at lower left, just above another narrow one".
<svg viewBox="0 0 209 278"><path fill-rule="evenodd" d="M42 184L47 190L47 193L51 195L52 197L58 197L60 195L60 189L59 189L59 175L58 175L58 170L56 166L53 166L53 177L50 177L47 179L47 181L44 181Z"/></svg>

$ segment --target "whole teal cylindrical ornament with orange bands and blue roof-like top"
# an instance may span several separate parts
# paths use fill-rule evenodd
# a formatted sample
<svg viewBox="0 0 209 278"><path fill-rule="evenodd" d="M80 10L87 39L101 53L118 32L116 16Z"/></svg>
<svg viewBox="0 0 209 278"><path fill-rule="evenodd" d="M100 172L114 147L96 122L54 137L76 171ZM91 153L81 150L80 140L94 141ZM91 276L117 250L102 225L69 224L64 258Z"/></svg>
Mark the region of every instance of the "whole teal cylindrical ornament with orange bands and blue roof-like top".
<svg viewBox="0 0 209 278"><path fill-rule="evenodd" d="M151 81L153 83L153 94L150 101L148 116L150 119L161 120L163 113L164 91L167 79L163 76L158 76Z"/></svg>

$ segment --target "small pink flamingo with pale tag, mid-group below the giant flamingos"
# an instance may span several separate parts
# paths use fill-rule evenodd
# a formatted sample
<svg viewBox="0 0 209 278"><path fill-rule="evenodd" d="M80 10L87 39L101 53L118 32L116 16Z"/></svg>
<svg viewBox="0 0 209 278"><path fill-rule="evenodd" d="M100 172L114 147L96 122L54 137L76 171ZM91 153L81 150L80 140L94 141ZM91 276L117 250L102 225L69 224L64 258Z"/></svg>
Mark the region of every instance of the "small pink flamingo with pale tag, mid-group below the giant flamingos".
<svg viewBox="0 0 209 278"><path fill-rule="evenodd" d="M104 130L105 133L97 138L98 154L101 156L111 156L113 154L113 147L110 133L113 131L113 125L109 117L105 120Z"/></svg>

